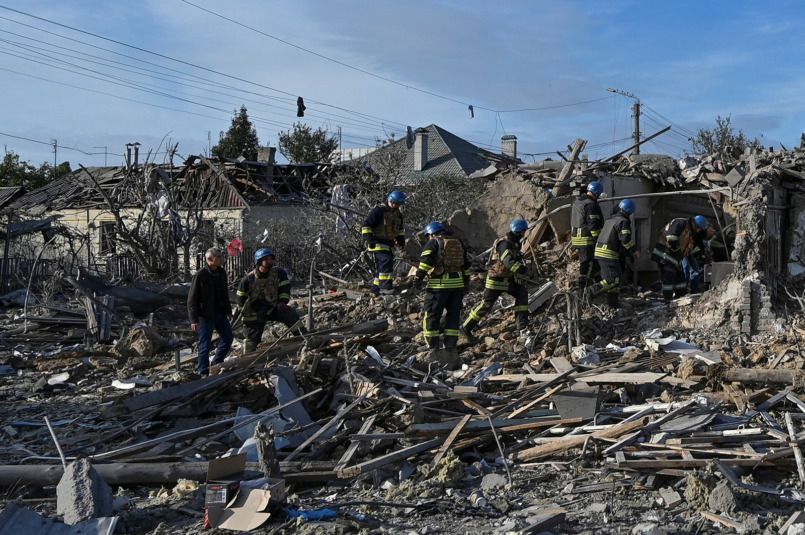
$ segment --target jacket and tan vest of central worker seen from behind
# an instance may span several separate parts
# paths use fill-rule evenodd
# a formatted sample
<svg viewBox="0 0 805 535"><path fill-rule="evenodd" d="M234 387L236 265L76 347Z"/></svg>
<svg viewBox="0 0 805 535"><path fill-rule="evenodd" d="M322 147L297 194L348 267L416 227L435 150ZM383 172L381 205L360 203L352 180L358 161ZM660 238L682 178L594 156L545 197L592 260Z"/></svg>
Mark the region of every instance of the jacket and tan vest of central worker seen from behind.
<svg viewBox="0 0 805 535"><path fill-rule="evenodd" d="M466 287L469 259L459 238L443 233L427 240L415 276L422 279L426 273L431 275L427 281L429 290L456 291Z"/></svg>

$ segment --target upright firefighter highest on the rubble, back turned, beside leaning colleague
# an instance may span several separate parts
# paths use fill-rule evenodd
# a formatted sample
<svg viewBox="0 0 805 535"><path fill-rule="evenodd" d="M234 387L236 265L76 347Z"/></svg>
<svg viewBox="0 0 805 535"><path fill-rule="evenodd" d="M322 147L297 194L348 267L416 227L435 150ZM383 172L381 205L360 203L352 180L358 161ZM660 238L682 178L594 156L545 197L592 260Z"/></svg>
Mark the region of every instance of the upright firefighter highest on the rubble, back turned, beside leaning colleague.
<svg viewBox="0 0 805 535"><path fill-rule="evenodd" d="M601 182L590 182L587 193L573 202L570 212L571 243L579 251L579 291L591 285L599 271L595 259L596 240L604 226L598 196L604 193Z"/></svg>

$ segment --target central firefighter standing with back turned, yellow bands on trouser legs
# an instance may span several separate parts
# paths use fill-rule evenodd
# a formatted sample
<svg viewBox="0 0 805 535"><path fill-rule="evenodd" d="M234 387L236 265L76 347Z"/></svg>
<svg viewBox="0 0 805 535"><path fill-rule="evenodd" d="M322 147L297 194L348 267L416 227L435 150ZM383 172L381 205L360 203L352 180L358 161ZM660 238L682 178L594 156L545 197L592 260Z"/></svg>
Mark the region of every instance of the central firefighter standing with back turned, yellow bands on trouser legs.
<svg viewBox="0 0 805 535"><path fill-rule="evenodd" d="M440 222L428 223L424 233L428 241L419 258L415 279L427 280L422 330L428 349L440 348L444 332L444 349L456 349L461 325L461 306L469 282L469 259L460 240L444 230ZM444 331L441 329L445 313Z"/></svg>

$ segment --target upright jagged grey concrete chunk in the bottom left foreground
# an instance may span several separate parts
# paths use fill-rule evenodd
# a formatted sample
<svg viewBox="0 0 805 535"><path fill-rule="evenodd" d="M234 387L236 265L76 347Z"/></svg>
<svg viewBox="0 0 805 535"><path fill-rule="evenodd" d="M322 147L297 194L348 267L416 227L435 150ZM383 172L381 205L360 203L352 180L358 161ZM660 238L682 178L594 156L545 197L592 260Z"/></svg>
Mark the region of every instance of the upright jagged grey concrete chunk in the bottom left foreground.
<svg viewBox="0 0 805 535"><path fill-rule="evenodd" d="M88 458L77 458L64 470L56 485L56 512L69 525L114 514L112 487L101 479Z"/></svg>

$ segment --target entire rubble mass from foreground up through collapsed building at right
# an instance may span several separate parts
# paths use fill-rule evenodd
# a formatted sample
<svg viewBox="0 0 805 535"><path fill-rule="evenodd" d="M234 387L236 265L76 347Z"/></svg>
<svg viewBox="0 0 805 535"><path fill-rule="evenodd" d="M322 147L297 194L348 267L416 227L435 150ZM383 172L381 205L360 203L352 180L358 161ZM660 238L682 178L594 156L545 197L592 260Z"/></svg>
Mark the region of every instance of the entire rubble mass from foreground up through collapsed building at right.
<svg viewBox="0 0 805 535"><path fill-rule="evenodd" d="M0 297L0 525L799 533L805 231L794 223L805 216L787 237L768 222L786 203L805 211L803 152L577 157L507 168L446 221L473 252L466 311L481 301L493 240L512 218L541 218L528 238L528 328L515 328L504 295L456 350L423 342L414 239L394 294L372 297L354 272L329 269L309 301L294 280L290 305L311 331L269 324L258 350L237 339L206 377L186 284L76 270L47 295ZM637 278L617 312L584 301L568 229L548 214L601 173L658 194L707 189L734 222L733 271L668 305Z"/></svg>

